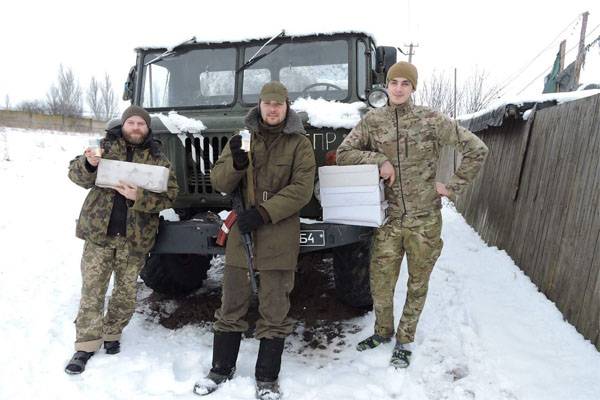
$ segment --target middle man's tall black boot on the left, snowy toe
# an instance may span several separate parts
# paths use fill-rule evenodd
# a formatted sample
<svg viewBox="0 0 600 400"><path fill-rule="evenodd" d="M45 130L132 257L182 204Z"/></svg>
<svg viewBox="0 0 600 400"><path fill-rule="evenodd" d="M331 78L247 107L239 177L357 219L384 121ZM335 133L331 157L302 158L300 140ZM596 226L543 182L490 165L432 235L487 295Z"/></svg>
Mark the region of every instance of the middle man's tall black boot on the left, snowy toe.
<svg viewBox="0 0 600 400"><path fill-rule="evenodd" d="M221 383L233 378L241 340L241 332L215 331L212 368L194 385L195 394L206 396L217 390Z"/></svg>

